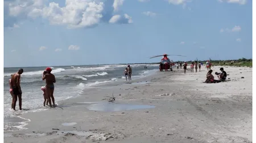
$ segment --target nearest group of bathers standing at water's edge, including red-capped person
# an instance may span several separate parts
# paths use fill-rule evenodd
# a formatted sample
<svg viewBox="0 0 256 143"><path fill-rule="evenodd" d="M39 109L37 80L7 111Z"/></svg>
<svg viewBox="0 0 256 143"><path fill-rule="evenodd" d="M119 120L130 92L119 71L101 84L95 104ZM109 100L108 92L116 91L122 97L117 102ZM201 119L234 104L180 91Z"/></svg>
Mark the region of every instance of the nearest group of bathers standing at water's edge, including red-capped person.
<svg viewBox="0 0 256 143"><path fill-rule="evenodd" d="M46 80L46 85L43 86L41 89L43 90L43 96L44 96L44 103L43 105L46 106L49 103L50 107L55 106L55 99L53 97L53 91L54 91L54 83L56 83L55 76L51 73L52 69L50 67L47 67L46 70L43 72L42 80ZM13 101L11 103L11 109L16 110L16 102L19 98L19 110L22 110L22 89L20 87L20 75L22 75L23 69L20 68L18 72L11 75L11 79L9 79L9 85L10 89L9 92L11 94L11 97L13 98ZM52 103L53 106L52 106Z"/></svg>

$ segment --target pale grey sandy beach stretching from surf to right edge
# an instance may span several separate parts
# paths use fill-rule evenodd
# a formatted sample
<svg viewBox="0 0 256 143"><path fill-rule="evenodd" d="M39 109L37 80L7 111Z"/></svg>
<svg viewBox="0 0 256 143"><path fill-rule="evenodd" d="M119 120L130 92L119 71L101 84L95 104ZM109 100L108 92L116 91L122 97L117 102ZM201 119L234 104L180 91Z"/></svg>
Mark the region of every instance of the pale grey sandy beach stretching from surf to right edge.
<svg viewBox="0 0 256 143"><path fill-rule="evenodd" d="M212 70L220 72L219 68ZM22 115L31 120L27 129L5 132L5 142L252 142L252 68L224 70L231 81L218 84L203 83L207 74L203 68L187 74L182 70L158 72L133 81L151 81L147 83L123 81L87 89L81 97L60 102L63 109ZM116 101L109 105L155 108L88 110L91 104L86 102L102 102L113 90Z"/></svg>

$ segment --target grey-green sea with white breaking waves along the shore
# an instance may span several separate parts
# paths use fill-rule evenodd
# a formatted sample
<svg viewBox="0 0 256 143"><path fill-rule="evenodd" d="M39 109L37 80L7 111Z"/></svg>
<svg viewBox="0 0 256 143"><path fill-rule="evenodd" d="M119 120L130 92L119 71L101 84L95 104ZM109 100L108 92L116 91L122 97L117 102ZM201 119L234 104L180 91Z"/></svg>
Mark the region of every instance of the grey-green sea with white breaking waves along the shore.
<svg viewBox="0 0 256 143"><path fill-rule="evenodd" d="M152 75L158 71L157 64L131 64L133 69L132 79ZM95 66L56 66L52 67L52 73L56 77L55 102L80 96L86 88L93 88L100 84L108 84L125 80L123 72L127 65L110 64ZM48 110L43 107L43 92L40 89L45 85L42 73L46 67L24 67L20 86L22 87L22 111L11 110L11 95L9 93L10 75L17 72L18 68L4 68L4 131L17 131L24 129L29 119L21 118L26 112L38 112ZM16 109L19 109L16 103Z"/></svg>

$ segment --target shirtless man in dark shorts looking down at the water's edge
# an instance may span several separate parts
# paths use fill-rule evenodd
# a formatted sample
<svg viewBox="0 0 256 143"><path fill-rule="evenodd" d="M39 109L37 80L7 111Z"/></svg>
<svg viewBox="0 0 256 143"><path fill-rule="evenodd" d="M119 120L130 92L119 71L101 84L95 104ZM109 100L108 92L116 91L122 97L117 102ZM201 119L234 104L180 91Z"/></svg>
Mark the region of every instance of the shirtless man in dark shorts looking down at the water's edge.
<svg viewBox="0 0 256 143"><path fill-rule="evenodd" d="M11 88L13 89L13 110L15 110L17 96L19 98L19 110L22 110L22 90L20 88L20 75L22 75L23 69L20 68L18 72L14 73L11 77Z"/></svg>

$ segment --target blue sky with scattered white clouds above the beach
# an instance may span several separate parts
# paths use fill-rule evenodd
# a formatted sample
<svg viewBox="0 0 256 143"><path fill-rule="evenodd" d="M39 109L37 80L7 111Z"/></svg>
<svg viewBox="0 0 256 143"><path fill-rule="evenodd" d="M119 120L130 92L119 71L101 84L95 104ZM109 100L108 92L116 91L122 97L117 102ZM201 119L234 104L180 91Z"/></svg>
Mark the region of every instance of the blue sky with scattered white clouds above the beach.
<svg viewBox="0 0 256 143"><path fill-rule="evenodd" d="M4 67L252 58L251 0L5 0Z"/></svg>

